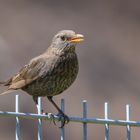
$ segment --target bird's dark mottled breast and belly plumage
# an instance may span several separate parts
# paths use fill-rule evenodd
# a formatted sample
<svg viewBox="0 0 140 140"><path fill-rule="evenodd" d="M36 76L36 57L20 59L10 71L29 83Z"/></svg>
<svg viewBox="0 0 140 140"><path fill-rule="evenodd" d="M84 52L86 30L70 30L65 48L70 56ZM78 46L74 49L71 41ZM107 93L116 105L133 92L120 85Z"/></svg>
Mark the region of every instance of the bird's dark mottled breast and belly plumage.
<svg viewBox="0 0 140 140"><path fill-rule="evenodd" d="M59 56L44 76L24 90L33 96L54 96L66 90L76 79L78 60L75 53Z"/></svg>

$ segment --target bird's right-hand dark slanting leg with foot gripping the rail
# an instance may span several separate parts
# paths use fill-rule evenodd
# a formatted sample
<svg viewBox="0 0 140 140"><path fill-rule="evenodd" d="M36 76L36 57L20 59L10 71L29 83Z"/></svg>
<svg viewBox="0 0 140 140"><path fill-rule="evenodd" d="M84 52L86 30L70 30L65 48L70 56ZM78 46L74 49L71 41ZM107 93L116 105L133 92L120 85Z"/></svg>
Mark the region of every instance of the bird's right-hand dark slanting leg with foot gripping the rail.
<svg viewBox="0 0 140 140"><path fill-rule="evenodd" d="M60 116L60 119L61 117L63 117L63 121L61 121L61 126L60 126L60 128L63 128L64 125L69 122L69 117L65 115L64 112L57 106L57 104L53 101L52 96L48 96L47 98L59 112L58 116Z"/></svg>

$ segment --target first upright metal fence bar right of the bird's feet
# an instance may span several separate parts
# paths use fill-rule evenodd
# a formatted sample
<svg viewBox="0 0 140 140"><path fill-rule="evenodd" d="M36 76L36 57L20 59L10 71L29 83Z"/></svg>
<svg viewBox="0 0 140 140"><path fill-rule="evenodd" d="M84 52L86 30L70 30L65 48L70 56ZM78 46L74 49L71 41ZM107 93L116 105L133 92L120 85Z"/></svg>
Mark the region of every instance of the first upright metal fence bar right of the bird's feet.
<svg viewBox="0 0 140 140"><path fill-rule="evenodd" d="M83 118L87 118L87 101L83 100ZM83 123L83 140L87 140L87 123Z"/></svg>

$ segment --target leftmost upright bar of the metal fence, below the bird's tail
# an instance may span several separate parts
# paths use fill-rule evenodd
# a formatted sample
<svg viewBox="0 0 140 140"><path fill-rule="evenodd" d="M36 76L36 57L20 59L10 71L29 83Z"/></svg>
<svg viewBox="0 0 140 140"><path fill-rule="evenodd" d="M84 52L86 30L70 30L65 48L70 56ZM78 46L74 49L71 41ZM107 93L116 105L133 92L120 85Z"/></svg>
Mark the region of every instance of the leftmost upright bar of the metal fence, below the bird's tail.
<svg viewBox="0 0 140 140"><path fill-rule="evenodd" d="M19 113L19 95L16 95L15 98L15 113ZM20 123L19 123L19 117L16 116L16 130L15 130L15 137L16 140L20 140Z"/></svg>

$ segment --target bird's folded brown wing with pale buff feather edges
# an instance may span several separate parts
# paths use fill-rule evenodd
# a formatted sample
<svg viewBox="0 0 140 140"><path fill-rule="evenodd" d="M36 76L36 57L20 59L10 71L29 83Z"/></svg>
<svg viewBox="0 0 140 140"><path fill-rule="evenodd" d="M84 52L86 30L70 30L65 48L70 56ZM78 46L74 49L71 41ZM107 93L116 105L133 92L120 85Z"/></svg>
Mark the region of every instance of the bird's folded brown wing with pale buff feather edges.
<svg viewBox="0 0 140 140"><path fill-rule="evenodd" d="M10 80L5 83L5 86L9 86L8 89L20 89L38 77L44 68L45 61L42 58L32 59L28 65L25 65L19 73L13 76Z"/></svg>

